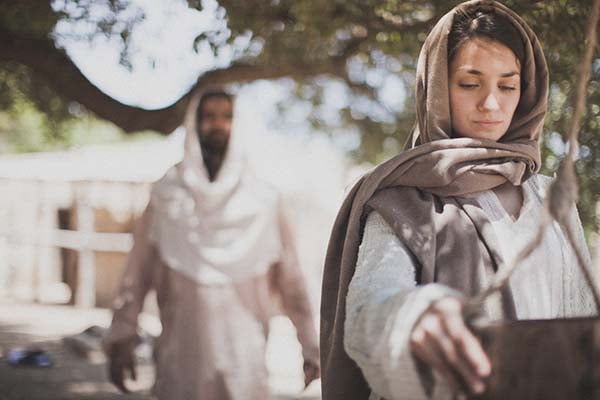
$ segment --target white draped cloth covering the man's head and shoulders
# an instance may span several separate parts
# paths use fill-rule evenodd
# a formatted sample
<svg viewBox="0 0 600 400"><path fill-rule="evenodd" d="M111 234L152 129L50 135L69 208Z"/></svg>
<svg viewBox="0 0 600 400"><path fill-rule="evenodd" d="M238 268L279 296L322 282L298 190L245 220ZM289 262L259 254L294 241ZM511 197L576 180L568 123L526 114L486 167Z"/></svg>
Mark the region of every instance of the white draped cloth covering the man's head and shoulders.
<svg viewBox="0 0 600 400"><path fill-rule="evenodd" d="M278 194L258 180L232 132L210 181L197 134L195 95L185 119L183 160L152 188L150 239L172 269L201 284L264 273L281 252Z"/></svg>

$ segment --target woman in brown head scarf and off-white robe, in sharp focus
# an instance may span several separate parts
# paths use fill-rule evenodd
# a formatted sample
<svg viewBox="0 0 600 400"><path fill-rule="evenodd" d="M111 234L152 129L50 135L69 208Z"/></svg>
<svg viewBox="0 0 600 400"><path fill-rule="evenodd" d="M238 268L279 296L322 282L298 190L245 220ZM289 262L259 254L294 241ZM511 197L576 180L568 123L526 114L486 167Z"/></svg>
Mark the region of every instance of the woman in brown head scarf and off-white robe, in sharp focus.
<svg viewBox="0 0 600 400"><path fill-rule="evenodd" d="M535 34L505 6L466 2L433 28L417 66L411 148L354 187L333 229L321 307L325 400L485 390L492 366L462 301L537 229L549 183L537 175L547 88ZM574 206L571 224L589 257ZM484 304L490 319L596 312L556 225L502 294Z"/></svg>

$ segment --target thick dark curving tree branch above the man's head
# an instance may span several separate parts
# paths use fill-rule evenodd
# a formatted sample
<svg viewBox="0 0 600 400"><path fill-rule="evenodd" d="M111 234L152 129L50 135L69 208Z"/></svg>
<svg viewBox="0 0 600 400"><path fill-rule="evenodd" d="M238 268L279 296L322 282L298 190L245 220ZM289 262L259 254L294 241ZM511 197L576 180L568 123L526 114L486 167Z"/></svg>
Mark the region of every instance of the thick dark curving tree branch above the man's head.
<svg viewBox="0 0 600 400"><path fill-rule="evenodd" d="M16 36L0 30L0 62L16 62L27 66L36 77L43 79L61 97L76 101L98 117L113 122L125 132L155 130L168 134L183 121L190 94L209 86L251 82L258 79L283 77L302 78L331 74L341 76L346 56L333 57L319 65L269 65L260 66L235 63L227 68L211 70L200 76L196 84L169 107L146 110L123 104L94 86L49 39Z"/></svg>

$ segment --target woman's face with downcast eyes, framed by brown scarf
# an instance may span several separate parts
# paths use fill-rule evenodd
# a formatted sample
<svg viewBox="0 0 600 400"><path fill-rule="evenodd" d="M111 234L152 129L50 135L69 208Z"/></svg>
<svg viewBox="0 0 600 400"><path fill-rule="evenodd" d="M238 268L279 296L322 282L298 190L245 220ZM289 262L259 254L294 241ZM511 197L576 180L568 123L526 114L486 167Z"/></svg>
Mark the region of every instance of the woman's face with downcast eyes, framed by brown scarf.
<svg viewBox="0 0 600 400"><path fill-rule="evenodd" d="M521 97L521 66L500 42L465 42L450 63L450 113L455 134L498 141Z"/></svg>

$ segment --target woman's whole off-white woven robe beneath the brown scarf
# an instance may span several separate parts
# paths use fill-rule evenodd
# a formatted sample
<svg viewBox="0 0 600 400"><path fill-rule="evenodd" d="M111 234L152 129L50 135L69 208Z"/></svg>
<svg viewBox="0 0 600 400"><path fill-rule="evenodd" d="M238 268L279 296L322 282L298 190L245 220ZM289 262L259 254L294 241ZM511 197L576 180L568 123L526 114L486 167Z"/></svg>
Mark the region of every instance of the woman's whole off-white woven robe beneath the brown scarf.
<svg viewBox="0 0 600 400"><path fill-rule="evenodd" d="M473 199L473 204L489 220L488 228L497 238L499 252L508 260L516 257L521 249L519 243L528 243L536 235L549 182L550 178L535 175L523 184L525 199L516 219L501 207L491 190ZM575 207L570 210L569 222L589 261ZM463 238L456 240L460 243ZM479 276L485 279L493 274L482 271ZM460 284L417 285L418 277L418 265L410 250L382 215L371 212L348 289L344 343L346 352L369 383L370 400L454 397L441 377L423 379L411 354L409 337L412 327L433 301L462 296L457 289ZM443 278L449 281L449 277ZM590 316L596 312L576 256L556 223L546 232L541 246L519 265L509 287L519 319ZM484 304L490 320L505 318L502 303L497 300Z"/></svg>

